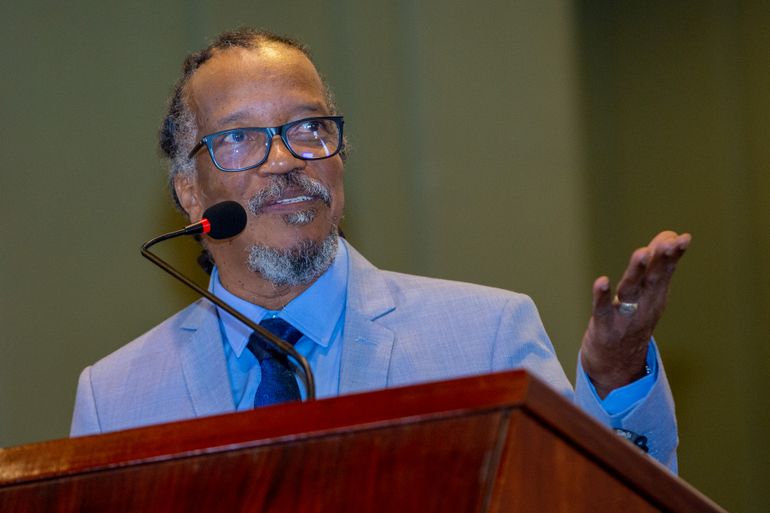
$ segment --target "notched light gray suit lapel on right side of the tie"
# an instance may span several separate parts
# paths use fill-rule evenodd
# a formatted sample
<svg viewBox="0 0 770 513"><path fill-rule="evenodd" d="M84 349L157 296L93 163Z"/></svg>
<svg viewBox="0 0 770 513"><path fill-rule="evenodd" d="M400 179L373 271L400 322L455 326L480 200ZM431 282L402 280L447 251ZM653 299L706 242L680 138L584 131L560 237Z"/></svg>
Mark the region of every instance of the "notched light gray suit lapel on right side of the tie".
<svg viewBox="0 0 770 513"><path fill-rule="evenodd" d="M348 300L342 342L340 393L385 388L395 334L380 321L395 301L380 270L349 244Z"/></svg>

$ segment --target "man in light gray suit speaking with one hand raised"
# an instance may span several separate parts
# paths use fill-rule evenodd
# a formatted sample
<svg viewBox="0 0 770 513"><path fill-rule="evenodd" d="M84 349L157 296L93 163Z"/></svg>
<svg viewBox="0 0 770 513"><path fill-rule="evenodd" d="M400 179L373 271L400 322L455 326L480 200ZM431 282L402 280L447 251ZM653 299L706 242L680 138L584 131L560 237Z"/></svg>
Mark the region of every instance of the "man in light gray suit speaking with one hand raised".
<svg viewBox="0 0 770 513"><path fill-rule="evenodd" d="M241 30L188 57L161 129L174 198L192 220L224 200L249 212L240 235L204 237L211 290L294 333L319 397L514 367L573 397L529 298L381 271L338 239L344 139L335 114L294 41ZM651 336L689 242L662 232L634 252L614 298L609 280L596 280L574 393L672 469L673 402ZM196 302L83 371L72 434L276 402L282 371L265 351L228 314Z"/></svg>

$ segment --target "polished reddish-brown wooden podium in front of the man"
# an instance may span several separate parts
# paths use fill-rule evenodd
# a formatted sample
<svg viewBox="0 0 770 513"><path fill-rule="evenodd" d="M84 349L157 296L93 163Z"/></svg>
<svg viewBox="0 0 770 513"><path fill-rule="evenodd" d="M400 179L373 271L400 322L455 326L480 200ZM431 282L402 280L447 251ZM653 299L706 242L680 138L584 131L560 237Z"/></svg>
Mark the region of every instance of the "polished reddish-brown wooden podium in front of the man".
<svg viewBox="0 0 770 513"><path fill-rule="evenodd" d="M522 371L0 449L10 512L717 512Z"/></svg>

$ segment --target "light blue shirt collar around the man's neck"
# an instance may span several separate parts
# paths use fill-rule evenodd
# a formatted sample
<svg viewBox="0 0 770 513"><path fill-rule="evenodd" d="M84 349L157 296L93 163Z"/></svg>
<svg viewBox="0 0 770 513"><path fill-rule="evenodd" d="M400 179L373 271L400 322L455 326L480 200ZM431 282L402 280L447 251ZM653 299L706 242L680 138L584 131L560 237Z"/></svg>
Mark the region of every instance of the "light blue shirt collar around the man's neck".
<svg viewBox="0 0 770 513"><path fill-rule="evenodd" d="M300 330L305 337L326 347L345 309L347 285L348 251L345 243L340 240L337 255L329 269L282 310L267 310L232 294L219 280L216 267L211 272L209 291L256 323L267 317L280 317ZM222 334L235 356L240 358L248 344L251 330L219 307L217 312Z"/></svg>

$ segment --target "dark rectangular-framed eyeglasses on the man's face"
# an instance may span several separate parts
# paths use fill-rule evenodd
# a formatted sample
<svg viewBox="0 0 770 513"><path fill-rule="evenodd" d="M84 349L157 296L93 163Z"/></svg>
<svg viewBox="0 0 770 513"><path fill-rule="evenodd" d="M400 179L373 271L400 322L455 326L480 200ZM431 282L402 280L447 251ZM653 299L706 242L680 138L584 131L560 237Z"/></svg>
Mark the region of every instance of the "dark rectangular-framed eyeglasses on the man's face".
<svg viewBox="0 0 770 513"><path fill-rule="evenodd" d="M292 155L302 160L328 159L342 149L342 116L298 119L263 128L232 128L204 136L187 158L206 146L211 161L222 171L246 171L261 166L270 154L273 138L281 137Z"/></svg>

